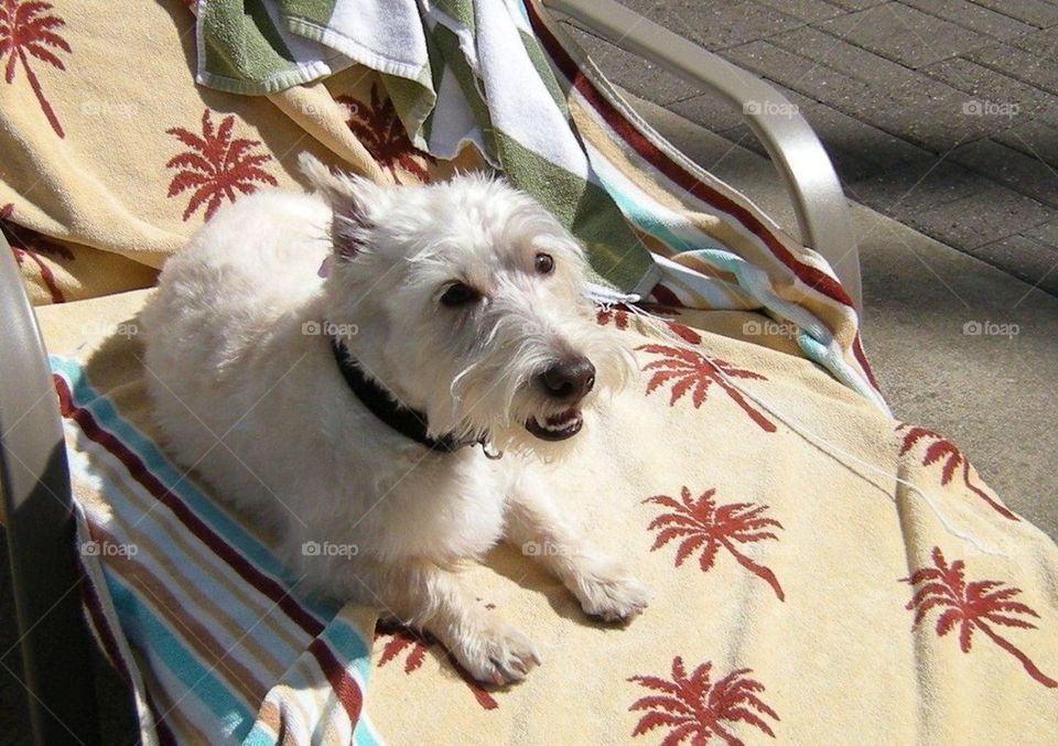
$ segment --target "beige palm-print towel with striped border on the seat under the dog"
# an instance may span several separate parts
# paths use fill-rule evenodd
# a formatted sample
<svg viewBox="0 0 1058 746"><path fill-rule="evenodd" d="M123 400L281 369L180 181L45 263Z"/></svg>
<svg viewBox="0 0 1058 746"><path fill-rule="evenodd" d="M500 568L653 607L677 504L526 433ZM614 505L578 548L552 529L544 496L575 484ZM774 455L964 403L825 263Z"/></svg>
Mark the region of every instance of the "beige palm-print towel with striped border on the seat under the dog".
<svg viewBox="0 0 1058 746"><path fill-rule="evenodd" d="M1058 547L950 441L790 339L747 336L758 314L600 314L643 372L543 478L654 597L608 627L535 566L552 548L493 551L465 582L543 661L495 689L373 608L306 597L270 538L169 460L148 292L39 310L88 618L144 743L1054 743Z"/></svg>

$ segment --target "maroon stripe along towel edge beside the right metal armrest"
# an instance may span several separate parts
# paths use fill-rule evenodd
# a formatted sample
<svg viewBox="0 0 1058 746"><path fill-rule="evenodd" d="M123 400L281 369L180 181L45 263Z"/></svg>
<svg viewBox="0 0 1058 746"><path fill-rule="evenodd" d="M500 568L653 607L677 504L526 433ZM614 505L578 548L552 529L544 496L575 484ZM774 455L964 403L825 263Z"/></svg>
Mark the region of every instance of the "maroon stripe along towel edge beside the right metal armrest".
<svg viewBox="0 0 1058 746"><path fill-rule="evenodd" d="M559 69L561 69L566 79L571 82L571 85L581 91L606 123L639 153L639 155L689 193L732 215L754 236L764 241L768 249L771 250L771 253L806 285L843 305L853 306L852 299L849 296L849 293L845 292L845 289L841 286L840 282L825 272L821 272L814 267L800 262L752 212L733 202L727 195L717 192L709 184L697 179L636 130L636 128L598 93L592 85L592 82L581 73L576 62L566 53L558 39L555 39L543 24L533 4L527 2L526 8L529 12L529 19L533 30L537 32L537 35L540 37L548 54L558 65ZM860 345L859 332L856 333L853 346L853 355L863 367L871 385L877 389L874 374Z"/></svg>

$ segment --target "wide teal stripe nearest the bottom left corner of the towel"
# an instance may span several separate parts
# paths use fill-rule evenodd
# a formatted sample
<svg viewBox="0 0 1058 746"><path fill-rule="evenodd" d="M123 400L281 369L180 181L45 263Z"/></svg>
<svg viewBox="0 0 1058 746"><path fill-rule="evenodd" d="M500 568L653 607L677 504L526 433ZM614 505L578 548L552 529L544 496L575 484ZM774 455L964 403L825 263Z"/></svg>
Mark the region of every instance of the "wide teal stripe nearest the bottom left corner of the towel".
<svg viewBox="0 0 1058 746"><path fill-rule="evenodd" d="M238 737L239 728L253 722L252 713L213 672L205 668L117 575L102 569L107 590L129 639L160 661L217 718L225 736Z"/></svg>

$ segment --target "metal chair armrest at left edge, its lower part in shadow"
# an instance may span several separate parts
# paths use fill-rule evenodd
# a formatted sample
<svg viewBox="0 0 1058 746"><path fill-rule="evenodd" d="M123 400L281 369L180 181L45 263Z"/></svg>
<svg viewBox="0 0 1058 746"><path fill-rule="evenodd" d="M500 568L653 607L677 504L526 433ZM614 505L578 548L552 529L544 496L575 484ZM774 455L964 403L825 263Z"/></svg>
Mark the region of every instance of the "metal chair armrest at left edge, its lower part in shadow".
<svg viewBox="0 0 1058 746"><path fill-rule="evenodd" d="M63 426L40 328L2 236L0 318L0 493L30 721L36 743L96 743Z"/></svg>

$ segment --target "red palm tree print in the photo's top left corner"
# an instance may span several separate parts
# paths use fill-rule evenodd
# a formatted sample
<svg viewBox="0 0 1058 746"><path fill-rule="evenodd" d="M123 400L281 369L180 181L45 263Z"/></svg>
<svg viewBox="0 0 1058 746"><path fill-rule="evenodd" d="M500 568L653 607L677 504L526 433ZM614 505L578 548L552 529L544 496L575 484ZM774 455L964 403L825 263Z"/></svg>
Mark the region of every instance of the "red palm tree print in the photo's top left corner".
<svg viewBox="0 0 1058 746"><path fill-rule="evenodd" d="M55 116L55 110L41 88L41 82L30 66L30 56L33 56L52 67L66 69L63 61L52 51L71 51L66 40L56 32L58 28L66 25L66 22L57 15L46 13L50 10L52 4L47 2L0 0L0 57L7 56L3 79L9 85L14 83L18 64L22 64L25 79L29 80L47 123L52 126L55 134L65 138L63 126L58 123L58 117Z"/></svg>

